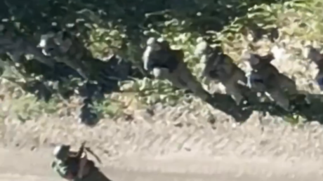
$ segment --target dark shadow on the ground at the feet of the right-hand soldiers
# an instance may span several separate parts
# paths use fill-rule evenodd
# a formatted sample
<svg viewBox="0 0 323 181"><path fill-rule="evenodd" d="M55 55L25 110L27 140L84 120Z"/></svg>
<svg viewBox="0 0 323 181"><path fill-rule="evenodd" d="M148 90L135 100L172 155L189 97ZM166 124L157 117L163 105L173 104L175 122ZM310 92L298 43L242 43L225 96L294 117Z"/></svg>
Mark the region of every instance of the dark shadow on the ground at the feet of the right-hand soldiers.
<svg viewBox="0 0 323 181"><path fill-rule="evenodd" d="M303 94L300 94L300 97ZM323 124L323 95L308 94L306 95L307 100L310 104L305 104L300 100L299 102L292 102L295 106L292 111L286 111L275 102L260 102L256 98L256 94L249 95L251 102L248 105L237 105L236 102L231 98L230 95L214 93L213 98L207 103L214 109L218 109L225 114L232 116L235 121L243 123L249 119L249 116L256 112L268 113L272 116L280 116L285 118L298 119L298 116L303 117L305 122L318 121Z"/></svg>

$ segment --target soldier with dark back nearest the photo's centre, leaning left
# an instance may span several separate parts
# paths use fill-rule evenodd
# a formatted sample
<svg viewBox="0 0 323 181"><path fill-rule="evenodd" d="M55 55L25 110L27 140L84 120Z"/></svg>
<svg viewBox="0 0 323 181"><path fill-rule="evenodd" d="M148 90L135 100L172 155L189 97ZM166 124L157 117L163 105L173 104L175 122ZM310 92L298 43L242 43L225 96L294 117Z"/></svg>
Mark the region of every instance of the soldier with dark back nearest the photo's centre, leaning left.
<svg viewBox="0 0 323 181"><path fill-rule="evenodd" d="M173 50L167 41L147 40L147 47L143 53L144 69L152 72L155 78L167 79L178 88L192 90L202 100L209 100L211 95L204 90L201 83L185 65L182 50Z"/></svg>

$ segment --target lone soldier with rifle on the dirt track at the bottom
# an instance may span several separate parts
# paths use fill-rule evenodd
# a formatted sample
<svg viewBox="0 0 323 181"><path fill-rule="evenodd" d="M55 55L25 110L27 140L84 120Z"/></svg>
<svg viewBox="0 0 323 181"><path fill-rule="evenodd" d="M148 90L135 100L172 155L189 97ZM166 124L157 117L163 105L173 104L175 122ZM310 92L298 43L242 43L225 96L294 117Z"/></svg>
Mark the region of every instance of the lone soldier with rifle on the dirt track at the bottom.
<svg viewBox="0 0 323 181"><path fill-rule="evenodd" d="M70 145L60 145L53 151L55 160L51 164L53 170L66 180L109 180L95 166L94 162L87 159L84 144L78 152L71 152Z"/></svg>

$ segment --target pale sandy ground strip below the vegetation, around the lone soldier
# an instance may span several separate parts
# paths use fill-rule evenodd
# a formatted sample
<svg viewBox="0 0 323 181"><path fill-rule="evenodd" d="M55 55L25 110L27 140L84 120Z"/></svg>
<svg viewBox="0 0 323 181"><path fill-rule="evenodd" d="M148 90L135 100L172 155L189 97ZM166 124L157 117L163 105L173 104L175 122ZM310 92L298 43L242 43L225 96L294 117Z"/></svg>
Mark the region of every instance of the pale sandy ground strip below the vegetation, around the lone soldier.
<svg viewBox="0 0 323 181"><path fill-rule="evenodd" d="M187 119L189 120L189 119ZM248 121L187 123L135 116L86 128L65 117L1 122L0 180L59 180L51 149L83 140L111 180L322 180L322 128Z"/></svg>

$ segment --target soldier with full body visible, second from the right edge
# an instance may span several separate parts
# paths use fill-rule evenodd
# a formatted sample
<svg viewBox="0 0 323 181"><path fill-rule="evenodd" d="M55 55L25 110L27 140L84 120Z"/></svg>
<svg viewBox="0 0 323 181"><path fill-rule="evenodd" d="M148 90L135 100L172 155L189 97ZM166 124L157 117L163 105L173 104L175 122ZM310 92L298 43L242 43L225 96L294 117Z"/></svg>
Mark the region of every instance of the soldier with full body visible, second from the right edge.
<svg viewBox="0 0 323 181"><path fill-rule="evenodd" d="M259 92L268 93L280 107L289 111L291 108L289 95L298 94L296 83L288 76L279 73L278 69L270 64L274 59L271 53L260 56L245 52L242 60L249 62L252 69L248 85Z"/></svg>

